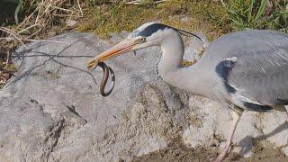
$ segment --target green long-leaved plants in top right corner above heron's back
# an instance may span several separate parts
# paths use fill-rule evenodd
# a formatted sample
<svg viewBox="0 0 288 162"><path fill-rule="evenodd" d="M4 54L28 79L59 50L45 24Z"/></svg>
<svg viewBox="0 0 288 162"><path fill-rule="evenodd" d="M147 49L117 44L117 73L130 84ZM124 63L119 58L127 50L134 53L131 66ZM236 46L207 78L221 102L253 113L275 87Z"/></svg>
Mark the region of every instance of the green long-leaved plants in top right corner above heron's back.
<svg viewBox="0 0 288 162"><path fill-rule="evenodd" d="M286 1L229 1L228 19L232 29L272 29L287 32Z"/></svg>

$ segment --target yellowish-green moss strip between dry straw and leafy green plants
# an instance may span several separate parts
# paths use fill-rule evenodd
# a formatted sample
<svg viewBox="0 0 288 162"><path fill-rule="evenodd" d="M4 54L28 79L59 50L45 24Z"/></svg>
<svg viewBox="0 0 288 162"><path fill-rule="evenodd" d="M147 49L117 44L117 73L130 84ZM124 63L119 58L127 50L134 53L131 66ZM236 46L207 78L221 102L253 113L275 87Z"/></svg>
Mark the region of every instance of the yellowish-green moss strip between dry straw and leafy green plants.
<svg viewBox="0 0 288 162"><path fill-rule="evenodd" d="M78 31L93 31L107 38L109 33L132 31L148 22L166 23L188 31L203 31L212 40L227 29L219 24L226 23L225 7L213 0L186 1L171 0L161 4L147 1L144 4L102 4L85 9L87 17L77 28ZM185 16L185 20L183 20Z"/></svg>

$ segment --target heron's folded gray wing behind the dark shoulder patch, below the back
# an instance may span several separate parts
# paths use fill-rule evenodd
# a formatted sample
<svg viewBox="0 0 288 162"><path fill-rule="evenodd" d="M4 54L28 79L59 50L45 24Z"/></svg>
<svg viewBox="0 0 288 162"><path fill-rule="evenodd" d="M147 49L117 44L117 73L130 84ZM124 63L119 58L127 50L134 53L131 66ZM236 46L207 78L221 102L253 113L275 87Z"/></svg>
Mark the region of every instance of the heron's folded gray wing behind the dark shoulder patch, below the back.
<svg viewBox="0 0 288 162"><path fill-rule="evenodd" d="M224 60L230 66L226 84L234 93L255 103L287 104L288 42L286 46L271 43L266 46L270 47L238 55L236 61Z"/></svg>

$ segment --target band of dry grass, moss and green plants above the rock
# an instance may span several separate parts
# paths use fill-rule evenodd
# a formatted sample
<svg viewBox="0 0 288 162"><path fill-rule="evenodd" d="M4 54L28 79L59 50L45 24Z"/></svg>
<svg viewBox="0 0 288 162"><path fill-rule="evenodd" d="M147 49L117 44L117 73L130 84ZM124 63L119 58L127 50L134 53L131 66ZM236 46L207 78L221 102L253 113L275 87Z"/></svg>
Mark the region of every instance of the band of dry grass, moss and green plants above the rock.
<svg viewBox="0 0 288 162"><path fill-rule="evenodd" d="M0 11L0 85L15 70L10 53L16 47L64 31L90 31L107 38L151 21L202 31L209 40L229 31L288 31L287 0L26 0L21 5L4 1L0 2L4 8ZM15 24L17 6L19 23Z"/></svg>

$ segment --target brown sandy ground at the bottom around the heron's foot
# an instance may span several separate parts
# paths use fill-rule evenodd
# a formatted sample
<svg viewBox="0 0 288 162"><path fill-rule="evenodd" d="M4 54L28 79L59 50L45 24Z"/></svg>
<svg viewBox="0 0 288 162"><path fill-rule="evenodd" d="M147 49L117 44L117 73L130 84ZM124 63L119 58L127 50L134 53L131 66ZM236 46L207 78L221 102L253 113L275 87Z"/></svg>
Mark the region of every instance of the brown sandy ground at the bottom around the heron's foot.
<svg viewBox="0 0 288 162"><path fill-rule="evenodd" d="M207 148L187 148L182 144L180 140L175 140L173 143L168 145L167 148L157 150L147 155L136 157L133 162L200 162L200 161L212 161L218 155L217 147ZM240 161L240 162L284 162L288 161L288 157L285 157L284 153L280 149L263 148L255 145L252 148L252 157L240 157L236 153L230 153L229 157L224 161Z"/></svg>

